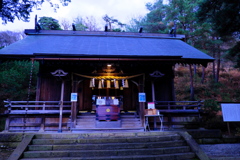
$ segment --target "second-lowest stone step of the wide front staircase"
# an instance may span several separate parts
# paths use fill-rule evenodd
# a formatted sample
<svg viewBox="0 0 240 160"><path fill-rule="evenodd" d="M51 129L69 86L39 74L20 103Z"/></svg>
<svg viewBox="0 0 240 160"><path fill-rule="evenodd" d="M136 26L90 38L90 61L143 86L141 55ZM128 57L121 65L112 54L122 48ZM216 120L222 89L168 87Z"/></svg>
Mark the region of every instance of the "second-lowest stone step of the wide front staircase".
<svg viewBox="0 0 240 160"><path fill-rule="evenodd" d="M53 158L53 157L99 157L99 156L136 156L162 155L190 152L188 146L169 148L118 149L118 150L68 150L66 151L26 151L24 158Z"/></svg>

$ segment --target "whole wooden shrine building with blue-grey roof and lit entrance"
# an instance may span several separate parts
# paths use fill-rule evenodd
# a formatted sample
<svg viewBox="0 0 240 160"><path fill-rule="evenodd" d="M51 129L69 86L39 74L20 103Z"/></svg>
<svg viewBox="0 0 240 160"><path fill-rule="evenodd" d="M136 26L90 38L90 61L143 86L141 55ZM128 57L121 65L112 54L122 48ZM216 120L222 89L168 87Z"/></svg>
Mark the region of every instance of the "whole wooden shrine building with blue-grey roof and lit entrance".
<svg viewBox="0 0 240 160"><path fill-rule="evenodd" d="M1 49L0 58L39 63L36 99L6 101L6 131L146 129L148 102L177 104L174 66L206 67L214 60L184 42L184 35L30 29L25 34ZM167 109L163 116L169 116Z"/></svg>

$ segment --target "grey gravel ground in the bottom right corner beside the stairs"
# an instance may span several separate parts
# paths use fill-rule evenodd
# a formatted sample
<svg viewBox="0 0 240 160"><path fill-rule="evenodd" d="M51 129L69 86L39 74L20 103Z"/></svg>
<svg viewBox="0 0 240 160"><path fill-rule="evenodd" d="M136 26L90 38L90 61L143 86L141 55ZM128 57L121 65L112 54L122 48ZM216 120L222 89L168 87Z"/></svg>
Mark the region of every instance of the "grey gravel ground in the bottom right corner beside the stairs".
<svg viewBox="0 0 240 160"><path fill-rule="evenodd" d="M214 160L240 160L240 143L200 145L202 150Z"/></svg>

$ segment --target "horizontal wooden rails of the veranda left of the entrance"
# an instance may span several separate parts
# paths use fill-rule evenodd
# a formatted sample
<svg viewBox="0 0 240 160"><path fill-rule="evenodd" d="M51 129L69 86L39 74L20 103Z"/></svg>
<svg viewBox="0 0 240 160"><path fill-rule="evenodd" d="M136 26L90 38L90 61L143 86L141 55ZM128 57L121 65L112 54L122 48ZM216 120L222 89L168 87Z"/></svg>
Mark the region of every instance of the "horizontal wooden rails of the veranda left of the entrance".
<svg viewBox="0 0 240 160"><path fill-rule="evenodd" d="M61 101L4 101L7 114L59 114ZM71 113L71 101L63 101L62 113Z"/></svg>

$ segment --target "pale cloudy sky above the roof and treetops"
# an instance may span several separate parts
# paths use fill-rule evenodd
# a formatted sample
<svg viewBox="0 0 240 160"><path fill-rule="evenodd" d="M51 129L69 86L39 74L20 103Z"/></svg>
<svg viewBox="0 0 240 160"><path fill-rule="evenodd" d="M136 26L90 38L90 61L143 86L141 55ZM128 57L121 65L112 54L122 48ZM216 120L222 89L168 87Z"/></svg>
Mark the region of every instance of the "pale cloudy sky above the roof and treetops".
<svg viewBox="0 0 240 160"><path fill-rule="evenodd" d="M58 0L52 0L52 2ZM149 11L146 9L145 4L147 2L154 3L156 0L72 0L68 6L60 8L57 12L54 12L48 2L43 3L41 10L34 10L30 16L30 22L22 22L15 20L14 23L8 22L7 25L3 25L0 20L0 31L23 31L24 29L34 29L35 15L39 17L53 17L59 22L62 19L67 19L71 23L73 19L81 17L93 16L99 27L104 28L105 22L102 17L108 14L110 17L118 19L122 23L128 23L132 17L144 16Z"/></svg>

